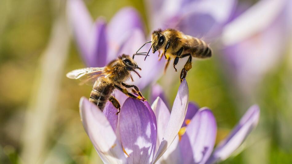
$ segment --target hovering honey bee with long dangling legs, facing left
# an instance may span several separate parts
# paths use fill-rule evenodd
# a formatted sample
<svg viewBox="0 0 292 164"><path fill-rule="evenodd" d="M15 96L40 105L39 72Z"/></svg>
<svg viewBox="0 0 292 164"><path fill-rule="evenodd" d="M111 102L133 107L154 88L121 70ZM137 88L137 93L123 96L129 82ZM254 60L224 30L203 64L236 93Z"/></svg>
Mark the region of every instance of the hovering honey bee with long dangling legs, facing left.
<svg viewBox="0 0 292 164"><path fill-rule="evenodd" d="M188 57L187 63L184 65L180 73L180 82L182 82L183 78L187 76L187 71L189 71L192 67L192 57L208 58L212 56L212 50L209 45L206 44L206 42L196 37L185 35L184 33L175 29L166 29L164 31L161 29L155 30L151 35L151 41L146 42L144 45L147 43L152 43L150 47L150 49L152 48L152 53L159 51L159 60L163 55L167 60L165 63L164 72L166 71L169 61L172 58L174 58L173 67L177 72L176 64L178 63L179 59ZM133 58L135 55L145 55L146 60L146 57L149 56L148 54L150 49L147 54L138 53L138 50L135 54L133 54ZM163 51L163 53L160 54L160 51Z"/></svg>

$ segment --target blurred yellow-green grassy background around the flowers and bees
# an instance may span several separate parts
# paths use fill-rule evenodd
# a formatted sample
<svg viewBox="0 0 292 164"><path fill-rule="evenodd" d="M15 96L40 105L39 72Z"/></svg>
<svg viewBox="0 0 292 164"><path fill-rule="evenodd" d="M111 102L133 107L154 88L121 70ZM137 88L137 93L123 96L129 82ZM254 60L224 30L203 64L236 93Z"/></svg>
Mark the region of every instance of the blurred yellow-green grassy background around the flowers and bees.
<svg viewBox="0 0 292 164"><path fill-rule="evenodd" d="M108 21L122 7L133 6L148 29L144 2L85 2L93 18L102 15ZM65 77L66 72L85 67L70 28L59 28L67 25L65 1L1 0L0 20L0 163L25 163L30 158L39 163L102 163L82 127L78 108L80 97L88 96L92 88ZM52 40L60 36L54 28L63 35L58 45L64 48L61 53L50 50ZM251 101L241 96L219 57L193 64L187 76L190 101L212 109L218 141L251 103L261 108L258 127L222 163L292 163L291 54L287 49L281 64L265 75ZM50 69L52 64L54 69ZM159 83L168 88L163 80ZM170 104L179 80L173 86L175 89L167 91ZM42 107L44 111L37 110Z"/></svg>

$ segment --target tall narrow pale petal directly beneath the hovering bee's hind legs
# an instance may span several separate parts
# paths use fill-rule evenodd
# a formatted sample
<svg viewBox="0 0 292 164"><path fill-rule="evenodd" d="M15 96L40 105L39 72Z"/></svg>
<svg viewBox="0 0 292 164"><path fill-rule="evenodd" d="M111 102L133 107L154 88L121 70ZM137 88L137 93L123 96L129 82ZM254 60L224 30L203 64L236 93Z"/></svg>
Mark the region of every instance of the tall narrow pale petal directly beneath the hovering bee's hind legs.
<svg viewBox="0 0 292 164"><path fill-rule="evenodd" d="M176 135L180 131L183 120L187 114L187 104L189 99L189 91L187 86L187 81L184 79L180 84L176 99L173 102L172 111L170 114L168 125L165 129L163 139L160 143L159 149L153 159L155 163L163 153L171 145L172 141L175 139Z"/></svg>

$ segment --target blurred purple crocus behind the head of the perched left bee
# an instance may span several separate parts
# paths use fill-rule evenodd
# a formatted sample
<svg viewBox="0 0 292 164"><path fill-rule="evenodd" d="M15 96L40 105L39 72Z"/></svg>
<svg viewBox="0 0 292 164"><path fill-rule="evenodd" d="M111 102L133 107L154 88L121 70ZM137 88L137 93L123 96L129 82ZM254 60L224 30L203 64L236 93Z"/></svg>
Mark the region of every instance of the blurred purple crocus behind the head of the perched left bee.
<svg viewBox="0 0 292 164"><path fill-rule="evenodd" d="M69 0L67 8L78 49L87 67L104 67L122 53L136 53L146 42L141 18L131 7L121 9L108 24L102 17L93 22L82 0ZM141 52L148 49L149 47L145 46ZM153 73L149 68L159 72L163 67L164 62L157 61L155 55L149 58L153 62L144 62L141 57L135 58L142 68L139 72L142 79L133 76L134 84L140 89L160 77L160 73ZM120 95L118 92L117 94Z"/></svg>

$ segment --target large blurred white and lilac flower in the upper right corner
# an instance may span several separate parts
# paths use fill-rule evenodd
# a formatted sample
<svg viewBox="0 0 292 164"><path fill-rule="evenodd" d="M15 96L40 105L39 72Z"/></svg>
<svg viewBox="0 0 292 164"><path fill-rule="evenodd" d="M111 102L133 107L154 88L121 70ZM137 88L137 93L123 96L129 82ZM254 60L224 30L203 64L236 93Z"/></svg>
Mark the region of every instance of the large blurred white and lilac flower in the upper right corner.
<svg viewBox="0 0 292 164"><path fill-rule="evenodd" d="M292 31L291 10L291 0L261 0L224 27L224 59L244 94L251 95L285 54Z"/></svg>

